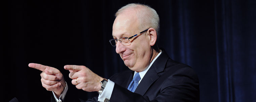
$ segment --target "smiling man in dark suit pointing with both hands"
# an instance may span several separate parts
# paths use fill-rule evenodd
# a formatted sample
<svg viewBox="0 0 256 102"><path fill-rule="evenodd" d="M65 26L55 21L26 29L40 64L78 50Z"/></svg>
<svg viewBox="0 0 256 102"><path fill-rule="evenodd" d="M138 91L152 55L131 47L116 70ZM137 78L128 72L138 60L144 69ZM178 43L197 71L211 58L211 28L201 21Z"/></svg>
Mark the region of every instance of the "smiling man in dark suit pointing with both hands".
<svg viewBox="0 0 256 102"><path fill-rule="evenodd" d="M142 4L128 4L116 13L112 46L130 69L104 79L85 66L66 65L71 83L77 89L97 91L89 102L198 102L199 82L187 65L171 60L157 46L159 17L156 11ZM53 92L52 101L71 101L62 73L40 64L29 67L43 71L42 86ZM79 100L77 100L79 101ZM83 100L80 100L83 101Z"/></svg>

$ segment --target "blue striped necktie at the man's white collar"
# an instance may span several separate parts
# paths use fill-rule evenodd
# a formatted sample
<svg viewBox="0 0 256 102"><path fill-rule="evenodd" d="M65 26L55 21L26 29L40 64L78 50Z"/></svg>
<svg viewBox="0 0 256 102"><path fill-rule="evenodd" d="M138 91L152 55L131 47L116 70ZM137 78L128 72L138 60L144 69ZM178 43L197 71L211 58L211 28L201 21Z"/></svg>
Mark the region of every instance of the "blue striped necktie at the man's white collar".
<svg viewBox="0 0 256 102"><path fill-rule="evenodd" d="M132 82L129 84L127 89L134 92L139 85L140 79L141 79L140 74L136 73L135 76L133 77Z"/></svg>

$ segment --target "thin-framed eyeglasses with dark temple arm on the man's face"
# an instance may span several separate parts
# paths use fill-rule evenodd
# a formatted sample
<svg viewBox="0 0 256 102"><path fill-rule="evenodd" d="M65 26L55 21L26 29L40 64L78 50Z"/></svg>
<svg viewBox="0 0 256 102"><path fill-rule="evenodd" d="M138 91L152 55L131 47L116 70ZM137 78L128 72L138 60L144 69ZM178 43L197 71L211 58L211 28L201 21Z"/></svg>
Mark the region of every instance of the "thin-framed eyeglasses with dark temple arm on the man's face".
<svg viewBox="0 0 256 102"><path fill-rule="evenodd" d="M148 31L148 29L146 29L146 30L140 32L139 34L142 34L142 33L145 32L145 31ZM122 45L127 46L127 45L130 45L130 44L131 44L130 39L133 38L133 37L135 37L135 36L137 36L137 35L139 35L139 34L135 34L135 35L133 35L133 36L131 36L131 37L121 37L121 38L119 38L119 39L111 39L111 40L109 40L109 42L110 42L110 44L111 44L112 46L116 46L117 40L119 40Z"/></svg>

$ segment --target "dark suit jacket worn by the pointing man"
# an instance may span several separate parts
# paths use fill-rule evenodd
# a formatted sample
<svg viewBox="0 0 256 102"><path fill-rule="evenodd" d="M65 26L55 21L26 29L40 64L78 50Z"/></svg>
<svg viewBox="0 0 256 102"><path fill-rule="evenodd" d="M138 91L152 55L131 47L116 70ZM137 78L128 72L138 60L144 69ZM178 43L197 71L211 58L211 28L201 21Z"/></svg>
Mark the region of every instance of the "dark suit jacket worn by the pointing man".
<svg viewBox="0 0 256 102"><path fill-rule="evenodd" d="M134 71L126 70L110 78L115 83L110 102L199 102L199 81L194 70L173 61L164 50L134 93L127 90L133 75ZM94 97L87 102L97 100Z"/></svg>

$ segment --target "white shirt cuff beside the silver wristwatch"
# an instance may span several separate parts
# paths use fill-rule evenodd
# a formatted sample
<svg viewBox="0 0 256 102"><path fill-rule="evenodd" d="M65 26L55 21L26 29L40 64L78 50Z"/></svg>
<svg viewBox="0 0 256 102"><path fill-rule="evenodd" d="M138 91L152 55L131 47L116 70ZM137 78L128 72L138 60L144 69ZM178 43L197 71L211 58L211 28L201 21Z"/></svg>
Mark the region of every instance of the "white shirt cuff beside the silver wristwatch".
<svg viewBox="0 0 256 102"><path fill-rule="evenodd" d="M99 97L98 97L98 101L105 102L105 100L110 100L111 94L114 89L114 85L115 85L114 82L112 82L111 80L108 80L108 83L107 83L105 89L103 90L101 95L99 95Z"/></svg>

